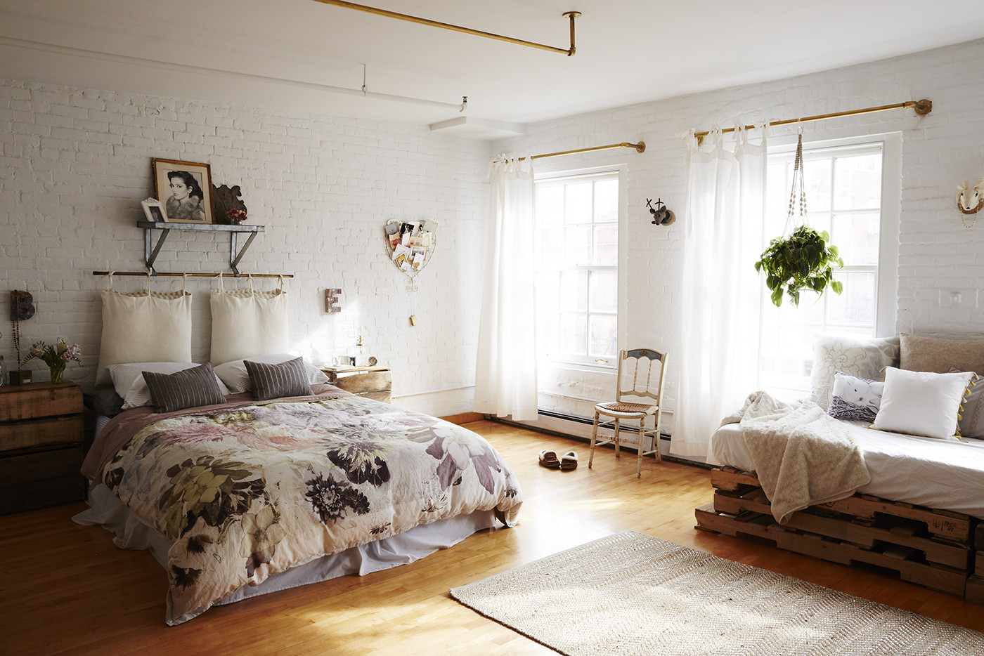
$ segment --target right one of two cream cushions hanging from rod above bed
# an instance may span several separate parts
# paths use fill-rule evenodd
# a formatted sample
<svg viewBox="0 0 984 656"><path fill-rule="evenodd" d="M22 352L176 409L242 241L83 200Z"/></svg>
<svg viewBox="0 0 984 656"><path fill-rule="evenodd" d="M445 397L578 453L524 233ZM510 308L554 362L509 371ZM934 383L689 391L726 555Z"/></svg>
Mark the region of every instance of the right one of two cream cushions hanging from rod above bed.
<svg viewBox="0 0 984 656"><path fill-rule="evenodd" d="M290 350L287 293L283 278L275 291L226 291L222 278L212 292L212 353L216 365Z"/></svg>

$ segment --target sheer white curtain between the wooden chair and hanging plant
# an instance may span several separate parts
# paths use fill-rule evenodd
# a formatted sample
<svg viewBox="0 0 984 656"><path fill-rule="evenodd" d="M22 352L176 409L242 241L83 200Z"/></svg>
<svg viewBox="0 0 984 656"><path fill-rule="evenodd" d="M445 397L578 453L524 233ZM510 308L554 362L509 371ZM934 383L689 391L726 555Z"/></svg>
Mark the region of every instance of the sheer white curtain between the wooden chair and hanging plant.
<svg viewBox="0 0 984 656"><path fill-rule="evenodd" d="M758 383L766 129L761 144L690 137L679 372L670 452L706 456L710 436Z"/></svg>

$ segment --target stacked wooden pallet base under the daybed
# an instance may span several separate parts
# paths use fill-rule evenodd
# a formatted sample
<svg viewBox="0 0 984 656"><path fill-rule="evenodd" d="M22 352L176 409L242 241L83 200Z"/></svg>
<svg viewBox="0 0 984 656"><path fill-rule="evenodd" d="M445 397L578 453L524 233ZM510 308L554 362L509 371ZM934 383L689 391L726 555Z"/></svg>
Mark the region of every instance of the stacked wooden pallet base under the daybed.
<svg viewBox="0 0 984 656"><path fill-rule="evenodd" d="M892 569L903 580L978 601L973 588L984 601L984 552L976 555L979 587L967 581L975 567L976 520L969 515L854 495L795 512L780 525L755 474L715 469L710 482L714 501L697 508L698 528L833 563Z"/></svg>

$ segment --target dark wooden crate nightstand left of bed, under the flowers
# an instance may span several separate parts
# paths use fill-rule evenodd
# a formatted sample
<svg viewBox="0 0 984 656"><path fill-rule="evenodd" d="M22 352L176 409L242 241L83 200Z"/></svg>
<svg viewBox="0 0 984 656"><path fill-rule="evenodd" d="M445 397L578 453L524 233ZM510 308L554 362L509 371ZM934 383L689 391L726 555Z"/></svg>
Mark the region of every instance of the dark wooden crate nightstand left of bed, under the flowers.
<svg viewBox="0 0 984 656"><path fill-rule="evenodd" d="M0 514L85 499L82 388L0 387Z"/></svg>

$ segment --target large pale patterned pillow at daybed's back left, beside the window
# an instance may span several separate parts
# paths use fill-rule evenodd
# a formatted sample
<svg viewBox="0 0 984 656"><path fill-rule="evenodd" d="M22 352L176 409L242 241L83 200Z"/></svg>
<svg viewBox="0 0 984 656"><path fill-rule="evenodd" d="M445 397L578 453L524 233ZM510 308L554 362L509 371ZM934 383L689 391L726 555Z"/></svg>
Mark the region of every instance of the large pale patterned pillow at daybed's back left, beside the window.
<svg viewBox="0 0 984 656"><path fill-rule="evenodd" d="M873 381L882 378L883 369L898 364L898 337L854 339L818 335L813 349L810 398L824 410L830 408L833 375L838 371Z"/></svg>

